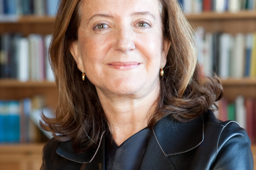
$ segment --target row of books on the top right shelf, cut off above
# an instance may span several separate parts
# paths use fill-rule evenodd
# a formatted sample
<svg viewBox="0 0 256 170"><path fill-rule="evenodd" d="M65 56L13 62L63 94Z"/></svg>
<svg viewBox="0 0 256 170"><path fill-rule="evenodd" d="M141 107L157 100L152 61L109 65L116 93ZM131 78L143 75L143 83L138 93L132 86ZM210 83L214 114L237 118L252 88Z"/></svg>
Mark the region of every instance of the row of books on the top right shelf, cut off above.
<svg viewBox="0 0 256 170"><path fill-rule="evenodd" d="M255 0L179 0L187 14L202 11L238 12L241 10L255 10Z"/></svg>

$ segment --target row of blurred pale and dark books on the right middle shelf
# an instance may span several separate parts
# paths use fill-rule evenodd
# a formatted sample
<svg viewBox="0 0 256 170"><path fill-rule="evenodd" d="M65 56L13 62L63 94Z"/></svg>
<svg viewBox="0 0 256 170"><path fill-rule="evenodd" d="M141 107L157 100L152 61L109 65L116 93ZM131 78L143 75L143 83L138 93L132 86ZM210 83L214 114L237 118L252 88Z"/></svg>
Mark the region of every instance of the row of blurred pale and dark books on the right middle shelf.
<svg viewBox="0 0 256 170"><path fill-rule="evenodd" d="M222 79L256 76L256 33L205 33L196 29L198 62L204 76Z"/></svg>

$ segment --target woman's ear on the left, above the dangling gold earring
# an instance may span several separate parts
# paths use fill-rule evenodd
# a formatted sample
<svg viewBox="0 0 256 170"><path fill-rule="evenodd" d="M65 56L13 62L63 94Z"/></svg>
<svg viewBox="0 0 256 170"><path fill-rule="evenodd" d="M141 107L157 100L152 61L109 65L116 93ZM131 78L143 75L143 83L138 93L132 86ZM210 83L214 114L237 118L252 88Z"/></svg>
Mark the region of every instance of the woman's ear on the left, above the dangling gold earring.
<svg viewBox="0 0 256 170"><path fill-rule="evenodd" d="M73 58L75 59L77 68L82 72L84 70L83 60L80 53L79 44L77 41L74 41L69 46L69 51L72 54Z"/></svg>

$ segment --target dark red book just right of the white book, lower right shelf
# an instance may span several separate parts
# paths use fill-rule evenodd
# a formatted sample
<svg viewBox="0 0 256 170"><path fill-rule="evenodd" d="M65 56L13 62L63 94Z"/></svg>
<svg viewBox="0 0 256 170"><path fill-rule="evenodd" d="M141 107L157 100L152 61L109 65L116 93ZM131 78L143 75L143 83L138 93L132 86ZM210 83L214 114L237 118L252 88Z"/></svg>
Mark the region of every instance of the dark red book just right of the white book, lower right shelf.
<svg viewBox="0 0 256 170"><path fill-rule="evenodd" d="M254 100L246 99L245 100L245 108L246 108L246 131L248 133L251 142L255 141L255 130L254 130Z"/></svg>

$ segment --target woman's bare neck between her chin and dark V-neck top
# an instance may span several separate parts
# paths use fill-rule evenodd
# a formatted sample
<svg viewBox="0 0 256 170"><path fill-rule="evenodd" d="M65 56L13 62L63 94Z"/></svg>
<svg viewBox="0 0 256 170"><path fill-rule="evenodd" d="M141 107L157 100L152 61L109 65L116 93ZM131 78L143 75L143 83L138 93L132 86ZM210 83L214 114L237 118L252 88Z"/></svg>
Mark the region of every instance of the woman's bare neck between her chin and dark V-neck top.
<svg viewBox="0 0 256 170"><path fill-rule="evenodd" d="M142 95L107 95L97 89L100 103L108 120L116 144L148 126L148 121L157 106L160 84Z"/></svg>

